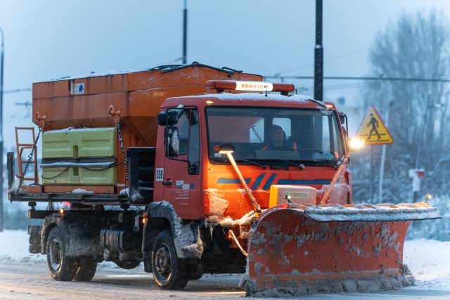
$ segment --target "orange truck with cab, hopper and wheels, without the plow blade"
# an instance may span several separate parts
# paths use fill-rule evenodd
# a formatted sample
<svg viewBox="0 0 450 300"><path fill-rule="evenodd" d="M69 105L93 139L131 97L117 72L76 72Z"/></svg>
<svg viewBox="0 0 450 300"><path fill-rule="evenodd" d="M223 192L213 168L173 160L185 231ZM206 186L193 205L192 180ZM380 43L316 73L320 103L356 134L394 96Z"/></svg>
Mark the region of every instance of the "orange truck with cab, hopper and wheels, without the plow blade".
<svg viewBox="0 0 450 300"><path fill-rule="evenodd" d="M55 280L90 280L100 261L143 262L164 289L244 273L259 213L319 203L347 151L332 103L198 63L34 84L33 121L42 178L20 167L8 195L43 220L30 252L47 255ZM345 167L330 203L352 202L351 181Z"/></svg>

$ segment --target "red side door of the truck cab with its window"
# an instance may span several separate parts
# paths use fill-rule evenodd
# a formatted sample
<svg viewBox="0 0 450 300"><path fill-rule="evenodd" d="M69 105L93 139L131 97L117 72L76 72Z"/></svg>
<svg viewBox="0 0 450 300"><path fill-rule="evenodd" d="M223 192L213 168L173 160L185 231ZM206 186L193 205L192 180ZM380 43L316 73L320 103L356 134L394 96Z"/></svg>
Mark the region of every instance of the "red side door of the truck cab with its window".
<svg viewBox="0 0 450 300"><path fill-rule="evenodd" d="M179 108L177 108L179 110ZM179 155L165 157L163 193L181 219L200 219L201 169L200 124L196 109L182 109L176 128L179 131Z"/></svg>

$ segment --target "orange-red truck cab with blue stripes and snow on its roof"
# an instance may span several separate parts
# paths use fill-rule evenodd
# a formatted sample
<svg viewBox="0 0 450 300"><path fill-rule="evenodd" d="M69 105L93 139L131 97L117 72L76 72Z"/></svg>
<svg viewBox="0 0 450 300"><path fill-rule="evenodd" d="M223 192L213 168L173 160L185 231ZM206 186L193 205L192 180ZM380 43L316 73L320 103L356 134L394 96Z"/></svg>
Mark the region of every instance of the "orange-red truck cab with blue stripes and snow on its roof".
<svg viewBox="0 0 450 300"><path fill-rule="evenodd" d="M161 111L178 119L158 126L158 136L166 138L158 139L153 197L172 204L181 219L237 220L253 209L229 159L214 146L233 145L233 157L262 209L274 206L273 185L311 186L319 193L308 195L309 201L319 203L321 188L345 154L342 115L332 104L305 96L205 93L168 98ZM172 141L167 132L176 132L176 150L167 145ZM276 134L278 145L271 141ZM348 188L332 197L334 202L351 202L350 180L346 171L342 183Z"/></svg>

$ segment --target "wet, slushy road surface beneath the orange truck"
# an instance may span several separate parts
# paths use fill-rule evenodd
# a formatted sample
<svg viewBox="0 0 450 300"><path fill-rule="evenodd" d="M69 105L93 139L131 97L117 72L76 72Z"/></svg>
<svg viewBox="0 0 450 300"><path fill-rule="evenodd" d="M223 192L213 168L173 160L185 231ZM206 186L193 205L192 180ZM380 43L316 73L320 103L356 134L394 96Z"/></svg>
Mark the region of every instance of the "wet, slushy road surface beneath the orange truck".
<svg viewBox="0 0 450 300"><path fill-rule="evenodd" d="M241 299L240 275L205 275L181 291L165 291L151 274L134 270L100 269L91 282L51 280L43 263L0 263L0 299ZM286 298L285 298L286 299ZM293 299L293 298L288 298ZM296 299L450 299L450 291L405 288L397 291L355 294L315 294Z"/></svg>

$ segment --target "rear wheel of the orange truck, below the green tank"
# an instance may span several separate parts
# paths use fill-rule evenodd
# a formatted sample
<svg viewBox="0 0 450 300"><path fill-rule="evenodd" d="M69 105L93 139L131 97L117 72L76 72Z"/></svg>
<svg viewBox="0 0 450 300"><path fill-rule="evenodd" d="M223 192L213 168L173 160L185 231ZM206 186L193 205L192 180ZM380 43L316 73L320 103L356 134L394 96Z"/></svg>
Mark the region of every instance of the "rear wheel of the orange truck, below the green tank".
<svg viewBox="0 0 450 300"><path fill-rule="evenodd" d="M47 268L53 280L70 281L77 271L77 264L67 256L68 244L58 227L50 231L46 244Z"/></svg>

